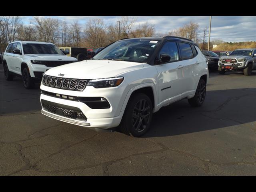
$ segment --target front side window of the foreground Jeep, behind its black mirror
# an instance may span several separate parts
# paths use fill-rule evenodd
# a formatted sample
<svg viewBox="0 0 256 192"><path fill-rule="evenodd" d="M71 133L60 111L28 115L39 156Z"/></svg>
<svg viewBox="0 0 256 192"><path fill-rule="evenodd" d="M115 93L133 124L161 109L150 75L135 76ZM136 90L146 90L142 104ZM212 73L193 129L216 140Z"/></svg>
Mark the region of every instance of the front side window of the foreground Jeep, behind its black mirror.
<svg viewBox="0 0 256 192"><path fill-rule="evenodd" d="M168 54L171 57L170 62L179 60L179 52L176 42L166 42L159 52L160 54Z"/></svg>

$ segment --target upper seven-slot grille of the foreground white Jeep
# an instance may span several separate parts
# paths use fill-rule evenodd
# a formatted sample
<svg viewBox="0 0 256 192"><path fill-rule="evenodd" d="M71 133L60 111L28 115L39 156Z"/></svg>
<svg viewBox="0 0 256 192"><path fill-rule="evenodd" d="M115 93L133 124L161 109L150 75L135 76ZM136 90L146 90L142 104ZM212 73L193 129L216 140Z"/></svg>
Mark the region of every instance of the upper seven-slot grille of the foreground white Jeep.
<svg viewBox="0 0 256 192"><path fill-rule="evenodd" d="M83 91L86 88L87 80L85 79L71 79L44 75L42 84L44 86L54 87L58 89Z"/></svg>

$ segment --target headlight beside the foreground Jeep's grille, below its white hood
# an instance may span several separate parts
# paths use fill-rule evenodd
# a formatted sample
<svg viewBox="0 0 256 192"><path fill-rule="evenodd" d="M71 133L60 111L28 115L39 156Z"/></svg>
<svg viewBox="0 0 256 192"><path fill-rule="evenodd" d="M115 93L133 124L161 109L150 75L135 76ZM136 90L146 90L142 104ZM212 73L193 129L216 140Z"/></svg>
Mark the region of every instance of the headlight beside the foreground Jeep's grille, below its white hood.
<svg viewBox="0 0 256 192"><path fill-rule="evenodd" d="M122 83L123 77L113 77L104 79L92 79L87 86L94 86L94 88L116 87Z"/></svg>

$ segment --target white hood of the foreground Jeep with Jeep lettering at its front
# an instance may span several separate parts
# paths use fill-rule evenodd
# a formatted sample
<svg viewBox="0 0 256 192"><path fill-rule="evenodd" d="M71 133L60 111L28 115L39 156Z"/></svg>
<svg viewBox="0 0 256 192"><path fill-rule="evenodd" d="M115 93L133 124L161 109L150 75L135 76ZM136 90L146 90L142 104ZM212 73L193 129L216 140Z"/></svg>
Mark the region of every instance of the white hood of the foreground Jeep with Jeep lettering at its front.
<svg viewBox="0 0 256 192"><path fill-rule="evenodd" d="M118 74L143 68L142 63L112 60L84 60L49 69L46 75L63 78L98 79L115 77Z"/></svg>

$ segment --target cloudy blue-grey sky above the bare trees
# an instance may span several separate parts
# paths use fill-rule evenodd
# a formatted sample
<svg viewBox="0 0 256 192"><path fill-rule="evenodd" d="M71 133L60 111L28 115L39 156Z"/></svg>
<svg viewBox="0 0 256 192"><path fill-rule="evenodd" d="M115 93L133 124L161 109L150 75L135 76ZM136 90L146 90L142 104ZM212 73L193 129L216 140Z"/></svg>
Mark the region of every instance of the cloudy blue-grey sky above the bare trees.
<svg viewBox="0 0 256 192"><path fill-rule="evenodd" d="M102 18L105 24L115 24L121 16L46 16L72 23L78 20L85 24L90 18ZM209 27L209 16L136 16L136 24L154 24L156 32L166 33L184 26L190 21L199 24L201 32ZM29 24L32 16L22 16L24 24ZM116 23L117 24L117 23ZM212 16L211 39L225 42L256 41L256 16Z"/></svg>

